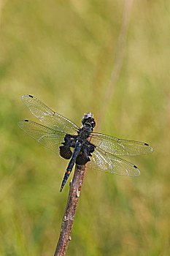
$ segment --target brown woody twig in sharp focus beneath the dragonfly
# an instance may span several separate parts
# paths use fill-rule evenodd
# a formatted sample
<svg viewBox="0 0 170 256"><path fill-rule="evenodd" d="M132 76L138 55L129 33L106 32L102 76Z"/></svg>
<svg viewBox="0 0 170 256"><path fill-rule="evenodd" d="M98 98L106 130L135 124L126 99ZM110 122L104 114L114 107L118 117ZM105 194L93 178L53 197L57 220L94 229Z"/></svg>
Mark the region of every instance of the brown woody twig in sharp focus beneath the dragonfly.
<svg viewBox="0 0 170 256"><path fill-rule="evenodd" d="M74 177L70 184L69 197L66 205L66 211L63 216L61 225L61 233L58 239L58 244L55 249L54 256L63 256L66 254L66 249L71 240L72 226L76 213L78 199L80 197L80 190L82 181L85 176L85 165L76 165L74 170Z"/></svg>

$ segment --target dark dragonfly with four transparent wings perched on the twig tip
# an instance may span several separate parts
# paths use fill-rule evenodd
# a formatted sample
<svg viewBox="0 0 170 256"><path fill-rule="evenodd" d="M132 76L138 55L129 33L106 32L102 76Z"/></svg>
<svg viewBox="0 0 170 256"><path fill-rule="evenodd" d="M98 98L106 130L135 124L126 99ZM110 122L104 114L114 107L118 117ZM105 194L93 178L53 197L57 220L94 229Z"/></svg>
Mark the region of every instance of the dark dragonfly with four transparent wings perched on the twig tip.
<svg viewBox="0 0 170 256"><path fill-rule="evenodd" d="M74 165L115 173L120 176L139 176L136 165L117 156L137 156L152 153L147 143L122 140L102 133L93 132L96 122L92 113L84 114L82 127L55 113L31 95L23 95L23 102L42 124L34 121L18 121L18 126L43 146L69 159L63 177L62 191Z"/></svg>

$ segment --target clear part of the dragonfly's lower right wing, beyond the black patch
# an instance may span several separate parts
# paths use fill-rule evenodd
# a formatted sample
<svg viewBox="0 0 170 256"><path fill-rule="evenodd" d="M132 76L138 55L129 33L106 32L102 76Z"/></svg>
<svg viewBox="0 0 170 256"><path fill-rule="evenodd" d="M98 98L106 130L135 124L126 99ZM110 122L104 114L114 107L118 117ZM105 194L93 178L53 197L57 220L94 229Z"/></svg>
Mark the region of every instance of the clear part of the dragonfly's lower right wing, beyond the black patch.
<svg viewBox="0 0 170 256"><path fill-rule="evenodd" d="M131 164L131 162L115 157L113 154L109 154L101 148L95 148L87 167L101 170L106 173L115 173L121 176L140 175L139 169L135 165Z"/></svg>

